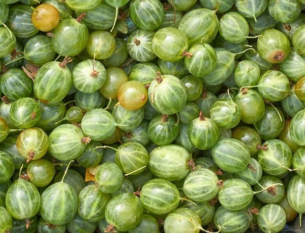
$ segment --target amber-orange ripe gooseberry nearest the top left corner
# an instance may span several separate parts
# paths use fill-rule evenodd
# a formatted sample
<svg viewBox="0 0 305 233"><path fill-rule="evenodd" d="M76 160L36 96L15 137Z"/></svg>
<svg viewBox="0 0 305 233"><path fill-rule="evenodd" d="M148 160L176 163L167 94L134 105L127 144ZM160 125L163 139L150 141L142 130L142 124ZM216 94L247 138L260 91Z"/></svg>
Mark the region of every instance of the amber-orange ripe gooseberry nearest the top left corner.
<svg viewBox="0 0 305 233"><path fill-rule="evenodd" d="M58 10L50 4L41 4L37 8L33 8L32 22L41 31L53 30L59 20Z"/></svg>

